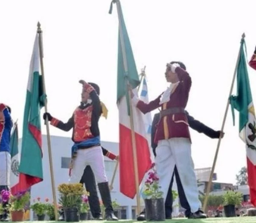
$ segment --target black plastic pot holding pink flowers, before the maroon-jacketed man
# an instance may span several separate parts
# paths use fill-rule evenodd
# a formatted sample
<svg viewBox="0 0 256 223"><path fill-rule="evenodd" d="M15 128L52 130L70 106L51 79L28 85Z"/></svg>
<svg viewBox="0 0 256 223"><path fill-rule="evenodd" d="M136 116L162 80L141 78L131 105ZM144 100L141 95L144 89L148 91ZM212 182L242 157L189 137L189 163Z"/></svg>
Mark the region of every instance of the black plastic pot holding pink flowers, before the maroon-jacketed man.
<svg viewBox="0 0 256 223"><path fill-rule="evenodd" d="M146 221L164 221L165 206L163 198L145 199Z"/></svg>

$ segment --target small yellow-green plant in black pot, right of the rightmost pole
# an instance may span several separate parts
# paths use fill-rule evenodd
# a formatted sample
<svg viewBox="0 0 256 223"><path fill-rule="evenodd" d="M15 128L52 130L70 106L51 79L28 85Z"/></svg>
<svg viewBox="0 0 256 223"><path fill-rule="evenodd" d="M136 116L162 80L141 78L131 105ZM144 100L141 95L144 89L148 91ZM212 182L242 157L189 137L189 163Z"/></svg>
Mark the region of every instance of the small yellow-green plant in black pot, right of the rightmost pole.
<svg viewBox="0 0 256 223"><path fill-rule="evenodd" d="M224 197L224 213L226 217L236 217L236 205L240 205L242 202L242 196L240 192L227 191Z"/></svg>

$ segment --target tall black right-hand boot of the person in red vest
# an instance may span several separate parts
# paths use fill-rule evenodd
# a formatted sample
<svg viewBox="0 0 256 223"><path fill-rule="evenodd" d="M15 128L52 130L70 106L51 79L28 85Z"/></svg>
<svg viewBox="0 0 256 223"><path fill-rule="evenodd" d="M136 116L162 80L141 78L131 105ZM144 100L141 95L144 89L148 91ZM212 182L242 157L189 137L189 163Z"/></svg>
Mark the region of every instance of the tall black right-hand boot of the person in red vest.
<svg viewBox="0 0 256 223"><path fill-rule="evenodd" d="M105 218L107 221L117 221L118 218L114 215L108 182L98 183L99 193L102 197L102 202L105 206Z"/></svg>

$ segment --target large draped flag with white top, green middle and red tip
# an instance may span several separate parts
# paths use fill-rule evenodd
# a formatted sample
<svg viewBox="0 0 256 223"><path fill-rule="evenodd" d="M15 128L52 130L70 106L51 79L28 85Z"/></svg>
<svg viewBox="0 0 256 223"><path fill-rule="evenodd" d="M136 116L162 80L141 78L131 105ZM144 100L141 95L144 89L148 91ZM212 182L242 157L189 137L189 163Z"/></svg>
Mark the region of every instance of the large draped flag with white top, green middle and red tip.
<svg viewBox="0 0 256 223"><path fill-rule="evenodd" d="M43 180L40 110L44 106L40 74L39 38L35 37L23 119L20 157L20 185L23 190Z"/></svg>

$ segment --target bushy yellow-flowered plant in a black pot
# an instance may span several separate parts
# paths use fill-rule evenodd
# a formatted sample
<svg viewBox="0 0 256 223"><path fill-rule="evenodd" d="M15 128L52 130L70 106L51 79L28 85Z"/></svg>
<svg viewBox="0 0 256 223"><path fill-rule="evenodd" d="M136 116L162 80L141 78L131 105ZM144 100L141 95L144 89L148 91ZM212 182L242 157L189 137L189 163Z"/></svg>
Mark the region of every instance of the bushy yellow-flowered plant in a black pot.
<svg viewBox="0 0 256 223"><path fill-rule="evenodd" d="M64 216L67 222L79 222L84 187L81 183L60 184L58 186L59 203L64 209Z"/></svg>

